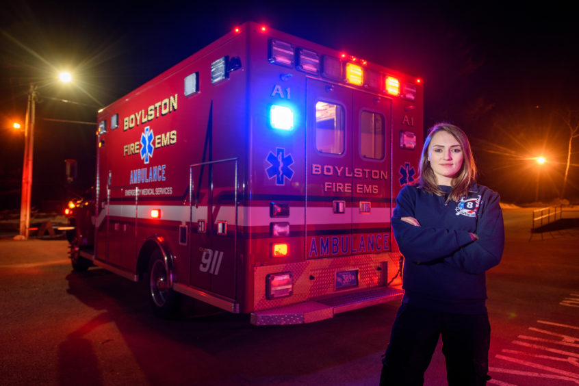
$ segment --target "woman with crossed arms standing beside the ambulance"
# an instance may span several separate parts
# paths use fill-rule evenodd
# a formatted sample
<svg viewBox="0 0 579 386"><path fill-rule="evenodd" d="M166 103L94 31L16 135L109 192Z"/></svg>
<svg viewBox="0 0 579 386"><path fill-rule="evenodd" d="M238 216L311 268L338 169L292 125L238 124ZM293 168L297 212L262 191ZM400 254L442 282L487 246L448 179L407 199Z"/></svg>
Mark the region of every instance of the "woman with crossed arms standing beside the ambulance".
<svg viewBox="0 0 579 386"><path fill-rule="evenodd" d="M485 271L504 247L498 193L477 185L465 133L437 124L420 178L396 198L394 237L404 255L404 297L383 359L381 385L422 385L442 336L448 385L487 383L490 325Z"/></svg>

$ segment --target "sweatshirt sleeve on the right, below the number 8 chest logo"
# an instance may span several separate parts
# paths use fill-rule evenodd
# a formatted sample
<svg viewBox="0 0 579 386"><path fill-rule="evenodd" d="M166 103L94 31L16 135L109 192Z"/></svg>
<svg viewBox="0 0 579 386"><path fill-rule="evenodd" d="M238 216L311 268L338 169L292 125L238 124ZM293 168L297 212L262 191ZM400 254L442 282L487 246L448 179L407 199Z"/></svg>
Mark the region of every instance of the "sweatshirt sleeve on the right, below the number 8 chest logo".
<svg viewBox="0 0 579 386"><path fill-rule="evenodd" d="M444 259L467 273L480 274L498 265L504 248L504 222L500 209L500 196L492 192L478 217L478 240L463 246Z"/></svg>

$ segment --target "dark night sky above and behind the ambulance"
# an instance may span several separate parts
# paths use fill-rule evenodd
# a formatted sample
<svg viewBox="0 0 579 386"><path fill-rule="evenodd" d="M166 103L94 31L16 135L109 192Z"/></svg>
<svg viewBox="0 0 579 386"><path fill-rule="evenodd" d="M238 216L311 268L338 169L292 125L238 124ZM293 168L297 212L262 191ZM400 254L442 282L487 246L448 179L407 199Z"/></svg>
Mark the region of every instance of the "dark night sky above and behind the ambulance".
<svg viewBox="0 0 579 386"><path fill-rule="evenodd" d="M561 193L569 127L579 118L577 7L417 1L18 1L0 14L0 209L19 207L31 81L40 87L33 204L90 186L96 112L244 21L264 23L424 79L425 129L446 120L469 134L479 181L503 201ZM462 5L459 5L462 4ZM509 5L506 5L509 4ZM75 85L57 84L70 70ZM66 99L75 103L62 103ZM81 103L81 104L78 104ZM579 138L565 196L579 203ZM541 153L541 154L539 154ZM65 188L64 159L79 160Z"/></svg>

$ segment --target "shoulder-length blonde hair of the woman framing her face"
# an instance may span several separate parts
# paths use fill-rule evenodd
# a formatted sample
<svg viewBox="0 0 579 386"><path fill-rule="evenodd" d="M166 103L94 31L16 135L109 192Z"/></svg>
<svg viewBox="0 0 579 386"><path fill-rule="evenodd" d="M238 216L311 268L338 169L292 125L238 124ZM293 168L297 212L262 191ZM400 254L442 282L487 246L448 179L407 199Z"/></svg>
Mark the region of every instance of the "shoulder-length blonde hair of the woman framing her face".
<svg viewBox="0 0 579 386"><path fill-rule="evenodd" d="M420 157L420 176L418 177L418 185L426 192L436 194L437 196L444 196L444 193L438 187L437 179L434 174L430 161L428 161L428 148L433 136L439 131L446 131L450 133L459 144L463 151L464 159L461 171L452 179L452 189L448 195L448 200L460 201L461 198L467 196L469 188L476 181L476 165L474 164L474 157L470 148L470 143L464 131L459 127L450 125L450 123L437 123L428 129L428 136L424 140L424 147L422 148L422 156Z"/></svg>

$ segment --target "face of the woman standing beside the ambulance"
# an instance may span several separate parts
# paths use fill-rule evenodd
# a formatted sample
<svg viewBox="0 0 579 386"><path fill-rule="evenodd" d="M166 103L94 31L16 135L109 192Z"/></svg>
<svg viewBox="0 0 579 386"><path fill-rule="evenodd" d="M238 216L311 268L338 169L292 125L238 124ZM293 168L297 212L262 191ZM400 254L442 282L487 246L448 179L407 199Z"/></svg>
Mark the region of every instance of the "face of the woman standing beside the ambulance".
<svg viewBox="0 0 579 386"><path fill-rule="evenodd" d="M428 161L437 184L452 186L452 179L461 172L464 162L460 142L448 131L438 131L428 145Z"/></svg>

